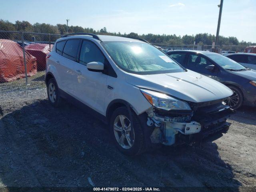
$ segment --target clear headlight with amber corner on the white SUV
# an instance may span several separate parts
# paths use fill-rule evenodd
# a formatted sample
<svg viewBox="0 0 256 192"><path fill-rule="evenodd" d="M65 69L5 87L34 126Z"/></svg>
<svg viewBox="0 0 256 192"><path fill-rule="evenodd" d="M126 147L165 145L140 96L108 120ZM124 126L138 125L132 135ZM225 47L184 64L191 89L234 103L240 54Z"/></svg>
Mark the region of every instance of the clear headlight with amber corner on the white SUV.
<svg viewBox="0 0 256 192"><path fill-rule="evenodd" d="M191 110L190 106L164 93L140 89L145 98L156 108L164 110Z"/></svg>

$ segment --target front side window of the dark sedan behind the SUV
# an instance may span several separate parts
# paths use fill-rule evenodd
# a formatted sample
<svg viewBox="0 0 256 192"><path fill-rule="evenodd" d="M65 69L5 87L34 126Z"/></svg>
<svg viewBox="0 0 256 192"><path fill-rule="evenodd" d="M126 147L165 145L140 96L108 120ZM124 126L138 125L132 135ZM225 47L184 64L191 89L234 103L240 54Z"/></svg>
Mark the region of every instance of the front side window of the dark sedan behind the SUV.
<svg viewBox="0 0 256 192"><path fill-rule="evenodd" d="M191 69L200 73L206 73L206 72L209 72L209 70L206 69L206 66L208 65L214 65L214 64L210 60L200 55L189 54L188 65L187 65L188 69Z"/></svg>

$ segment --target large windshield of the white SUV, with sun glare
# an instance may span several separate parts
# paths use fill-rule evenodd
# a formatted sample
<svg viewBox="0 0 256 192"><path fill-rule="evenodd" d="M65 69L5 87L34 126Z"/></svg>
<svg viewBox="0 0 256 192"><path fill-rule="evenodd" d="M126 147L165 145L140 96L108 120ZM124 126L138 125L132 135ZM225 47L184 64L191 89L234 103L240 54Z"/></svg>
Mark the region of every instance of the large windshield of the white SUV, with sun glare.
<svg viewBox="0 0 256 192"><path fill-rule="evenodd" d="M102 42L114 62L137 74L184 72L180 65L154 46L141 42Z"/></svg>

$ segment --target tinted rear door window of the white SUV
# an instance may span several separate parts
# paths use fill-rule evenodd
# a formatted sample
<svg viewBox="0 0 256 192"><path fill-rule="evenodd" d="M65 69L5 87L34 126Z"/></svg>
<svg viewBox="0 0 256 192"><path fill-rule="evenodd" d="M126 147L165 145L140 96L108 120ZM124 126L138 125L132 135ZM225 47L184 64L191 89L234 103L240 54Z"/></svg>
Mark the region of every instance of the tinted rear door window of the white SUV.
<svg viewBox="0 0 256 192"><path fill-rule="evenodd" d="M79 39L67 40L62 56L75 61L79 43Z"/></svg>

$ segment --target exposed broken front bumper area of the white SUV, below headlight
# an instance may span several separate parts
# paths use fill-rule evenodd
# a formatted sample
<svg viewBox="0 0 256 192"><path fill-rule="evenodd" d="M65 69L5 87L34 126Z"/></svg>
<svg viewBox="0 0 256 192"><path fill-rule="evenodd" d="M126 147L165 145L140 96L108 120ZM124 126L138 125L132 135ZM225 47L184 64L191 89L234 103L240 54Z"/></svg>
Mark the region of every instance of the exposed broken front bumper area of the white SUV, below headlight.
<svg viewBox="0 0 256 192"><path fill-rule="evenodd" d="M226 109L217 114L210 114L211 118L208 120L198 118L197 121L190 122L173 122L166 118L163 119L164 121L161 121L160 118L154 119L155 124L158 122L158 126L150 138L152 143L160 142L164 145L201 142L216 132L226 132L230 126L226 120L232 113L234 113L233 110Z"/></svg>

